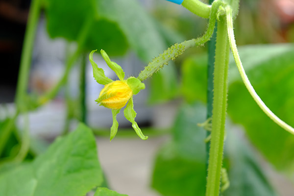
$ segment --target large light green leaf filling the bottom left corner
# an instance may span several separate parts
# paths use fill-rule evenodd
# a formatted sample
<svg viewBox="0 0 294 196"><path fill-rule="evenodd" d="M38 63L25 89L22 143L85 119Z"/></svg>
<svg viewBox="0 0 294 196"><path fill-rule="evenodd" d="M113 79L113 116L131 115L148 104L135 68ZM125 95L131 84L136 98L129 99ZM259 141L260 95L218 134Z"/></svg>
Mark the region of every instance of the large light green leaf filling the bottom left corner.
<svg viewBox="0 0 294 196"><path fill-rule="evenodd" d="M84 196L103 181L92 131L80 124L45 154L0 175L1 196Z"/></svg>

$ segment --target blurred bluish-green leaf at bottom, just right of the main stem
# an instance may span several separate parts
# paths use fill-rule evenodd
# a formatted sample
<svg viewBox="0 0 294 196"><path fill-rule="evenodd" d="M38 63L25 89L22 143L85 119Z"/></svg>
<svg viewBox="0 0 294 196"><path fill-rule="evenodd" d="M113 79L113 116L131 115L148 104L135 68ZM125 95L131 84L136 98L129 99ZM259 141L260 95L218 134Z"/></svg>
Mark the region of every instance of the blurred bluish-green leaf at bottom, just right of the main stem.
<svg viewBox="0 0 294 196"><path fill-rule="evenodd" d="M228 124L224 167L229 171L230 186L223 192L223 196L277 196L243 132Z"/></svg>

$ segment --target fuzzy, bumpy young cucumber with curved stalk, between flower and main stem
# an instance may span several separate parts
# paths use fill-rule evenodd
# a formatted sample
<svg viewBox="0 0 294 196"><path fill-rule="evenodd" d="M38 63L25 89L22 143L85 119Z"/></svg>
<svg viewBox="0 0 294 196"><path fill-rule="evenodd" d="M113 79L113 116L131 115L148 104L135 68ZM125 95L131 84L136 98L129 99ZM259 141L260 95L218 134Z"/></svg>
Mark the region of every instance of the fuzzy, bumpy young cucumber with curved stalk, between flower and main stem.
<svg viewBox="0 0 294 196"><path fill-rule="evenodd" d="M196 45L203 45L212 37L214 27L216 24L217 13L219 7L223 4L221 0L216 0L213 2L210 12L210 20L208 23L208 27L204 35L198 37L197 39L192 39L188 41L184 41L180 44L174 44L172 47L165 50L162 54L155 57L139 74L138 79L143 81L150 77L153 73L156 73L164 65L167 65L170 60L174 60L176 57L181 55L186 49L194 47Z"/></svg>

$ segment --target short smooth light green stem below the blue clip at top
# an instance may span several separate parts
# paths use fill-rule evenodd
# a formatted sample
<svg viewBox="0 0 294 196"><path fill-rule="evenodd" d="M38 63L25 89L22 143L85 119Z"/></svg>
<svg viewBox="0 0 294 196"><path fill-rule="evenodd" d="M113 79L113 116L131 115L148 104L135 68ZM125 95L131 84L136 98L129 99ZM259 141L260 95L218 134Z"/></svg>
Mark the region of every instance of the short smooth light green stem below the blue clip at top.
<svg viewBox="0 0 294 196"><path fill-rule="evenodd" d="M209 18L211 6L199 0L184 0L182 5L190 12L202 18Z"/></svg>

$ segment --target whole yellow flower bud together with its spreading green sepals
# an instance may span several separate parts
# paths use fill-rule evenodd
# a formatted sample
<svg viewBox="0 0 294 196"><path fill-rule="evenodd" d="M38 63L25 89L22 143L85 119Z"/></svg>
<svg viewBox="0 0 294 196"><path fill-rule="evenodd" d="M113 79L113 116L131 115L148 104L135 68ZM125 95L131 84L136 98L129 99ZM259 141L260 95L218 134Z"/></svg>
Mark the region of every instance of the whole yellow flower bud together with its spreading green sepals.
<svg viewBox="0 0 294 196"><path fill-rule="evenodd" d="M106 52L101 49L100 52L102 57L110 69L118 75L120 80L113 81L112 79L106 77L104 71L101 68L98 68L97 64L93 60L93 53L95 51L97 50L93 50L89 55L93 68L93 75L99 84L105 85L101 90L98 99L96 99L96 102L111 109L112 111L113 124L110 129L110 141L116 135L119 127L116 116L125 105L126 107L123 111L124 117L132 123L132 127L136 131L137 135L141 139L147 140L148 137L143 135L138 124L135 122L136 112L133 104L133 95L136 95L140 92L140 90L145 89L145 84L136 77L129 77L125 80L122 67L117 63L110 61Z"/></svg>

